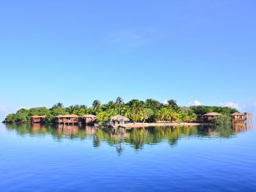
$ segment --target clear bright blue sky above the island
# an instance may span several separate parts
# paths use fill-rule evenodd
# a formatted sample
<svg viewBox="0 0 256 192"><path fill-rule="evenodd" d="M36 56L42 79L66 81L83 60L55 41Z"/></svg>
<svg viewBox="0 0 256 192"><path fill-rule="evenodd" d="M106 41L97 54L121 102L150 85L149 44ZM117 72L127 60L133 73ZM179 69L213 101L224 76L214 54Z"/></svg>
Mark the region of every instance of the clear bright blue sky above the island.
<svg viewBox="0 0 256 192"><path fill-rule="evenodd" d="M122 97L256 112L256 1L0 1L0 119Z"/></svg>

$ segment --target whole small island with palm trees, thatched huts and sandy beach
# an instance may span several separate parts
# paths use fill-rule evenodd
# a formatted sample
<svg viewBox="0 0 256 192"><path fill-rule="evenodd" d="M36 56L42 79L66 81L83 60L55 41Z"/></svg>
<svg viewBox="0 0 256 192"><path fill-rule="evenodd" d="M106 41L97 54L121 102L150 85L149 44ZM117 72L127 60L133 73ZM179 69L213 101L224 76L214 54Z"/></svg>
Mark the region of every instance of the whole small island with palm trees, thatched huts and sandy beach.
<svg viewBox="0 0 256 192"><path fill-rule="evenodd" d="M148 127L159 125L230 124L252 121L251 113L239 113L237 109L221 106L180 107L176 100L163 104L154 99L133 99L125 103L121 97L115 102L101 104L94 100L92 107L75 105L64 108L63 104L19 109L6 116L3 123L86 124L97 127Z"/></svg>

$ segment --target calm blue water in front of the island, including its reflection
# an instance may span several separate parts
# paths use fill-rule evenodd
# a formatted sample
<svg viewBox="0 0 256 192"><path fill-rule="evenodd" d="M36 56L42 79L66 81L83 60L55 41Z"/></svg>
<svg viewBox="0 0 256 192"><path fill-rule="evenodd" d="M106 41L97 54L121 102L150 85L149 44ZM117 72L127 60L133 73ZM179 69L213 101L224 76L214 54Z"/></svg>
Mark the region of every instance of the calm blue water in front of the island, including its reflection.
<svg viewBox="0 0 256 192"><path fill-rule="evenodd" d="M0 191L256 191L256 132L0 124Z"/></svg>

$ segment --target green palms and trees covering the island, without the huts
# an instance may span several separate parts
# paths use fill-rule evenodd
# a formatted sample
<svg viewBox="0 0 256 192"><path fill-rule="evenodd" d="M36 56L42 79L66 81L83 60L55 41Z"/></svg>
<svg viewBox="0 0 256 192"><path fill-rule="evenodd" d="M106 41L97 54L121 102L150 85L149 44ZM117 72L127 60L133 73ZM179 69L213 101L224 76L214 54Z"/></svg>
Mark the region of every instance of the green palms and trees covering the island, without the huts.
<svg viewBox="0 0 256 192"><path fill-rule="evenodd" d="M111 100L102 104L100 100L94 100L92 107L86 105L75 105L64 108L62 103L54 104L52 108L31 108L19 109L16 113L6 116L6 123L30 122L33 115L46 115L47 123L54 122L56 115L75 114L83 116L86 114L97 115L99 122L108 122L111 116L123 115L128 117L132 122L193 122L198 115L205 113L217 112L223 115L238 112L237 109L220 107L220 106L191 106L180 107L176 100L170 99L167 104L163 104L154 99L145 101L132 99L124 102L121 97L115 101Z"/></svg>

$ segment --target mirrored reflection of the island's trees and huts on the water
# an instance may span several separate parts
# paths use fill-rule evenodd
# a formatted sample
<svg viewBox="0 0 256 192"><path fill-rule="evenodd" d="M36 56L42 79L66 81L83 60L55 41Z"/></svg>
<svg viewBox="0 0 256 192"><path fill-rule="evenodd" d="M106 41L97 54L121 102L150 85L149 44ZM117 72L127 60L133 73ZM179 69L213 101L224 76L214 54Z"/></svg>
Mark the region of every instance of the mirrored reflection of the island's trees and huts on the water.
<svg viewBox="0 0 256 192"><path fill-rule="evenodd" d="M122 154L124 144L129 144L136 150L144 145L154 145L168 142L177 145L181 138L232 138L244 131L252 129L252 123L223 126L166 126L135 129L99 129L83 125L40 125L40 124L6 124L6 129L16 131L20 136L47 136L56 140L85 140L90 138L93 147L99 147L101 142L115 146L116 152Z"/></svg>

